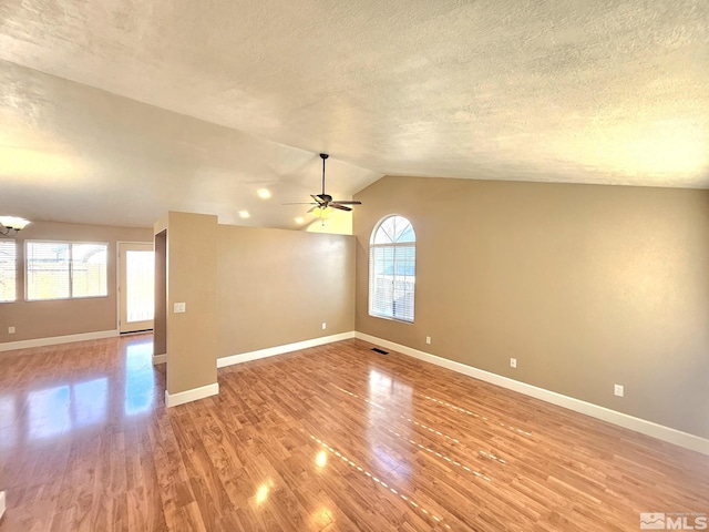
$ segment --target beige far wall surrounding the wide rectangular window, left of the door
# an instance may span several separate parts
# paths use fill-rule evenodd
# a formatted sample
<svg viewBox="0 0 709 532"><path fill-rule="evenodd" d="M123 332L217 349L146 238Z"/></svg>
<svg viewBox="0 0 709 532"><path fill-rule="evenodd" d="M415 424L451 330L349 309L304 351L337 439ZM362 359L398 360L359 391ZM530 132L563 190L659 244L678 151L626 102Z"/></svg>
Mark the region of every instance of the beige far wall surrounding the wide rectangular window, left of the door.
<svg viewBox="0 0 709 532"><path fill-rule="evenodd" d="M116 317L116 242L152 242L150 228L33 222L19 233L18 300L0 303L0 344L54 336L115 330ZM24 241L105 242L109 244L107 297L24 300ZM16 328L14 335L8 327Z"/></svg>

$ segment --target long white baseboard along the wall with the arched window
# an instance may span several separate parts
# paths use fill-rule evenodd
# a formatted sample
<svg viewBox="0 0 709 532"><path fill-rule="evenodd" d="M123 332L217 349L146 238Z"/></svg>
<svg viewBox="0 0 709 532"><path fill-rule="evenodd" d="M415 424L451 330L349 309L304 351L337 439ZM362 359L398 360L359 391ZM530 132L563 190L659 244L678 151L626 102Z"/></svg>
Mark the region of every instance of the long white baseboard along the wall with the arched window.
<svg viewBox="0 0 709 532"><path fill-rule="evenodd" d="M590 416L592 418L602 419L609 423L617 424L618 427L624 427L643 434L651 436L653 438L657 438L658 440L675 443L686 449L701 452L702 454L709 454L709 440L695 434L690 434L688 432L682 432L681 430L665 427L662 424L636 418L634 416L618 412L616 410L610 410L609 408L599 407L590 402L582 401L580 399L563 396L562 393L545 390L544 388L537 388L536 386L527 385L525 382L510 379L507 377L502 377L483 369L477 369L465 364L438 357L435 355L420 351L418 349L402 346L400 344L394 344L393 341L384 340L382 338L366 335L364 332L358 331L354 334L354 337L364 341L369 341L370 344L382 346L394 351L399 351L403 355L418 358L419 360L423 360L435 366L441 366L442 368L467 375L469 377L474 377L475 379L484 380L485 382L497 385L502 388L507 388L510 390L524 393L525 396L551 402L552 405L556 405L558 407L567 408L568 410L573 410L575 412L585 413L586 416Z"/></svg>

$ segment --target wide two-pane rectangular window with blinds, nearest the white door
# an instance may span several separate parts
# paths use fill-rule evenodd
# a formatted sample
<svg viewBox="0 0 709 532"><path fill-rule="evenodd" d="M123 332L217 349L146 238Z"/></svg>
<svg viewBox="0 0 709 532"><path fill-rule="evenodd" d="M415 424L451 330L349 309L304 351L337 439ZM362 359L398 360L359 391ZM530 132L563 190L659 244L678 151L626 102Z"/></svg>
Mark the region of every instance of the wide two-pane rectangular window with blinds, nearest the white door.
<svg viewBox="0 0 709 532"><path fill-rule="evenodd" d="M28 242L27 300L106 296L107 254L107 244Z"/></svg>

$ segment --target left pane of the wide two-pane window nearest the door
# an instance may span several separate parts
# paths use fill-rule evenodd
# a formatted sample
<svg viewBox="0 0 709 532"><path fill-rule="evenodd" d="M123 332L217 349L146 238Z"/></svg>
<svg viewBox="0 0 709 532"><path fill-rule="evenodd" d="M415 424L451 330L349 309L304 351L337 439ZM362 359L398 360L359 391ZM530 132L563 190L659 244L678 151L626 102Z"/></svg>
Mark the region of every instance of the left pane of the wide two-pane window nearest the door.
<svg viewBox="0 0 709 532"><path fill-rule="evenodd" d="M28 300L68 298L70 296L69 268L69 244L59 242L28 242Z"/></svg>

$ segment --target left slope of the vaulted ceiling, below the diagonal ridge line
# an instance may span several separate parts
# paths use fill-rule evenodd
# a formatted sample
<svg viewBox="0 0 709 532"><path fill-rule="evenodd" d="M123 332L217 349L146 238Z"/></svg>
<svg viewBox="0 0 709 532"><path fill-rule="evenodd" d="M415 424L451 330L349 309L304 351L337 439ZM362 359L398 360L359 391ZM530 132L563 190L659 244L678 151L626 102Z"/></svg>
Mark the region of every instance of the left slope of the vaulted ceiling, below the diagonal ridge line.
<svg viewBox="0 0 709 532"><path fill-rule="evenodd" d="M150 227L172 209L296 228L308 206L280 204L321 184L317 154L1 61L0 124L0 213L29 219ZM328 160L333 195L379 177Z"/></svg>

